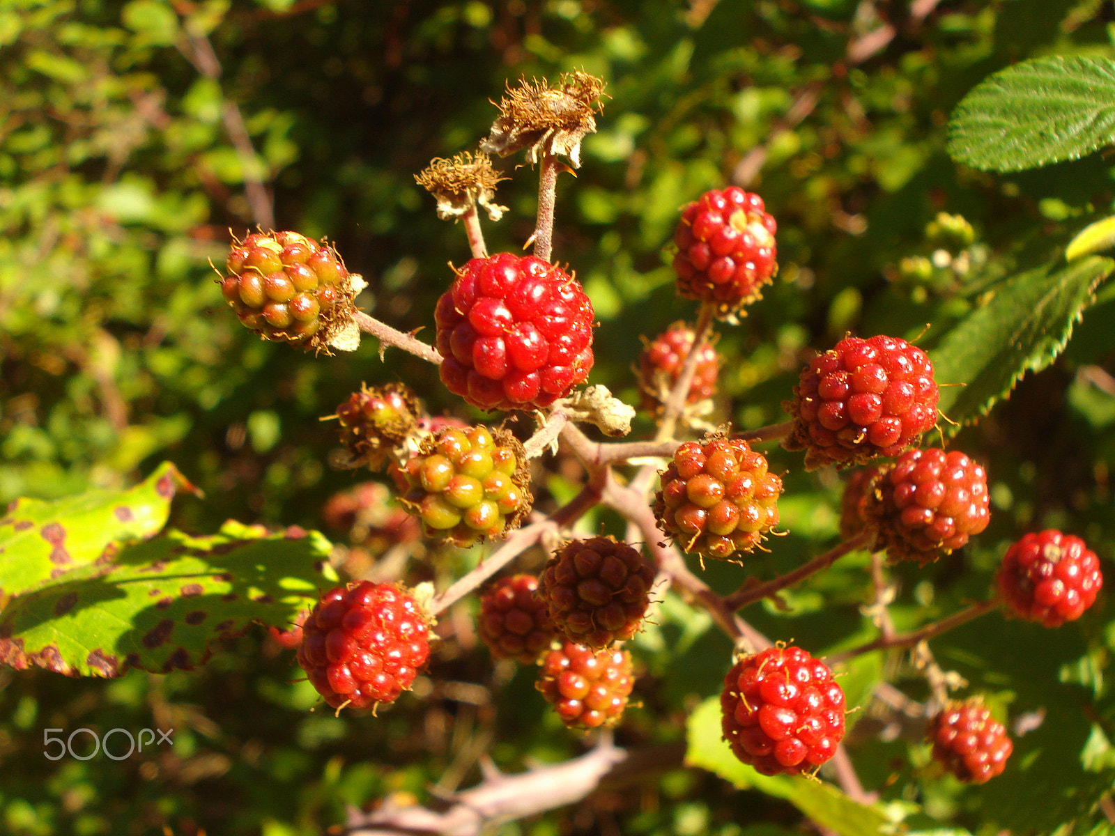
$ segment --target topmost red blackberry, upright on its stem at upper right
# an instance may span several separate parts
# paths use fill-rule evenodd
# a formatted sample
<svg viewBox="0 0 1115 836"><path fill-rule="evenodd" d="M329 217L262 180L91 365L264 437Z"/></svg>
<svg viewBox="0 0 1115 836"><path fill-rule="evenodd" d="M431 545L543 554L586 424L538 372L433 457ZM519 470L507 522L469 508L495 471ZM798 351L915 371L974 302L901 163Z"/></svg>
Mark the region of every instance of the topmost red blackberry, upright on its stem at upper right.
<svg viewBox="0 0 1115 836"><path fill-rule="evenodd" d="M762 197L736 186L714 188L682 208L673 232L678 293L715 302L720 317L758 299L778 269L778 224L765 208Z"/></svg>

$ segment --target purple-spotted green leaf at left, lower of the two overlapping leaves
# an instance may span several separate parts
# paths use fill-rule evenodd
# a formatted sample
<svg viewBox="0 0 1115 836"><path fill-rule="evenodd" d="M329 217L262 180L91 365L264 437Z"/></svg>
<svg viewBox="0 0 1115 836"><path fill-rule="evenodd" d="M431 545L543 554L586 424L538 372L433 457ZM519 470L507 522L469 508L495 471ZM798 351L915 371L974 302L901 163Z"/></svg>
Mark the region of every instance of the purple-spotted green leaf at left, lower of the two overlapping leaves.
<svg viewBox="0 0 1115 836"><path fill-rule="evenodd" d="M0 610L0 662L67 675L191 670L252 621L289 625L334 580L321 574L330 548L318 532L232 521L207 537L169 531L12 599Z"/></svg>

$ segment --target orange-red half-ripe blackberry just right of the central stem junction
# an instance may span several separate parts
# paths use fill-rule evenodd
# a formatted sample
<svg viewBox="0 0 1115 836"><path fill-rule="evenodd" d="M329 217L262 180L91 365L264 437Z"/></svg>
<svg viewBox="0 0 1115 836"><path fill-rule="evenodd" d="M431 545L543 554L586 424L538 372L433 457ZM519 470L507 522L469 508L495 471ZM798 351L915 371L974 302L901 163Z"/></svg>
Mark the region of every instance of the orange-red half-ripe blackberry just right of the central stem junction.
<svg viewBox="0 0 1115 836"><path fill-rule="evenodd" d="M686 441L659 482L658 525L691 554L731 560L778 524L782 479L743 439Z"/></svg>

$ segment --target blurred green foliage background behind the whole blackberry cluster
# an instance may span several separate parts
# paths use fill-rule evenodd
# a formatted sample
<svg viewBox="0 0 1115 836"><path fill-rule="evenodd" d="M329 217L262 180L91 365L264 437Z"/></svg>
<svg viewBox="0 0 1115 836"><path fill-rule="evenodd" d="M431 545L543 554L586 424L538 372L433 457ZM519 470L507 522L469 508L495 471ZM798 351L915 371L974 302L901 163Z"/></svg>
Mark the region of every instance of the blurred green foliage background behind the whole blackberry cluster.
<svg viewBox="0 0 1115 836"><path fill-rule="evenodd" d="M396 351L380 363L371 340L332 358L259 341L225 309L210 262L223 261L230 229L328 235L370 283L359 304L429 339L447 262L468 250L413 175L475 147L507 79L574 68L604 78L611 96L578 177L559 184L555 231L555 256L601 322L592 381L634 398L632 336L694 315L663 253L678 208L736 182L778 218L780 272L738 327L721 329L720 415L744 427L782 420L812 349L846 331L913 338L925 323L932 347L991 283L1056 260L1112 213L1102 155L990 175L950 161L944 126L989 74L1028 57L1109 58L1113 38L1115 13L1099 0L11 0L0 6L0 500L118 488L171 459L205 492L176 503L180 528L209 533L225 517L320 527L324 499L362 477L330 466L336 437L319 418L361 381L406 380L432 411L472 416L432 367ZM534 177L501 165L512 179L497 201L512 211L486 225L488 244L518 251ZM935 265L943 245L927 226L941 212L962 215L975 236L937 265L947 281L932 270L921 280L903 259ZM958 268L963 252L972 269ZM988 465L992 524L963 554L894 570L899 629L985 596L1002 550L1027 529L1063 527L1115 554L1113 318L1115 290L1101 285L1059 358L950 441ZM760 576L831 544L838 517L837 476L770 455L786 473L789 534L749 564ZM568 496L574 476L553 476L547 490ZM614 525L585 524L601 523ZM475 560L411 573L444 585ZM871 638L857 609L864 568L841 562L787 595L788 612L747 618L818 651ZM706 576L727 592L740 572ZM865 786L920 805L914 830L1090 832L1115 768L1105 603L1056 632L993 614L993 630L978 622L934 642L1001 713L1044 717L1001 778L983 788L933 778L920 742L869 722L852 739ZM730 648L704 616L668 597L636 642L642 707L621 743L679 740L686 712L719 689ZM896 665L873 658L852 675L864 694L885 675L924 697ZM291 682L295 671L262 631L192 673L0 670L0 830L302 836L341 822L346 805L468 786L485 747L514 771L584 743L544 710L531 671L493 671L467 633L440 645L423 699L378 718L310 712L314 694ZM489 698L460 700L446 683ZM118 764L42 755L47 727L156 725L176 730L173 749ZM799 827L782 800L676 769L638 796L602 791L503 832Z"/></svg>

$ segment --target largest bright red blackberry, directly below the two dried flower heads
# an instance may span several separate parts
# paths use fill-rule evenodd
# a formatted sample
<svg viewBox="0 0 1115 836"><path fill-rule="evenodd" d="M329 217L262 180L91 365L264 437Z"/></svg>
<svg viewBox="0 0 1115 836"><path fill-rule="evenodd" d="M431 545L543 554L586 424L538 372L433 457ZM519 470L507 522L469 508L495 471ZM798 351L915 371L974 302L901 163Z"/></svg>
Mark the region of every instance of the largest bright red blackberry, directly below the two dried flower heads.
<svg viewBox="0 0 1115 836"><path fill-rule="evenodd" d="M533 255L473 259L438 300L442 381L482 409L547 407L592 369L592 303Z"/></svg>

